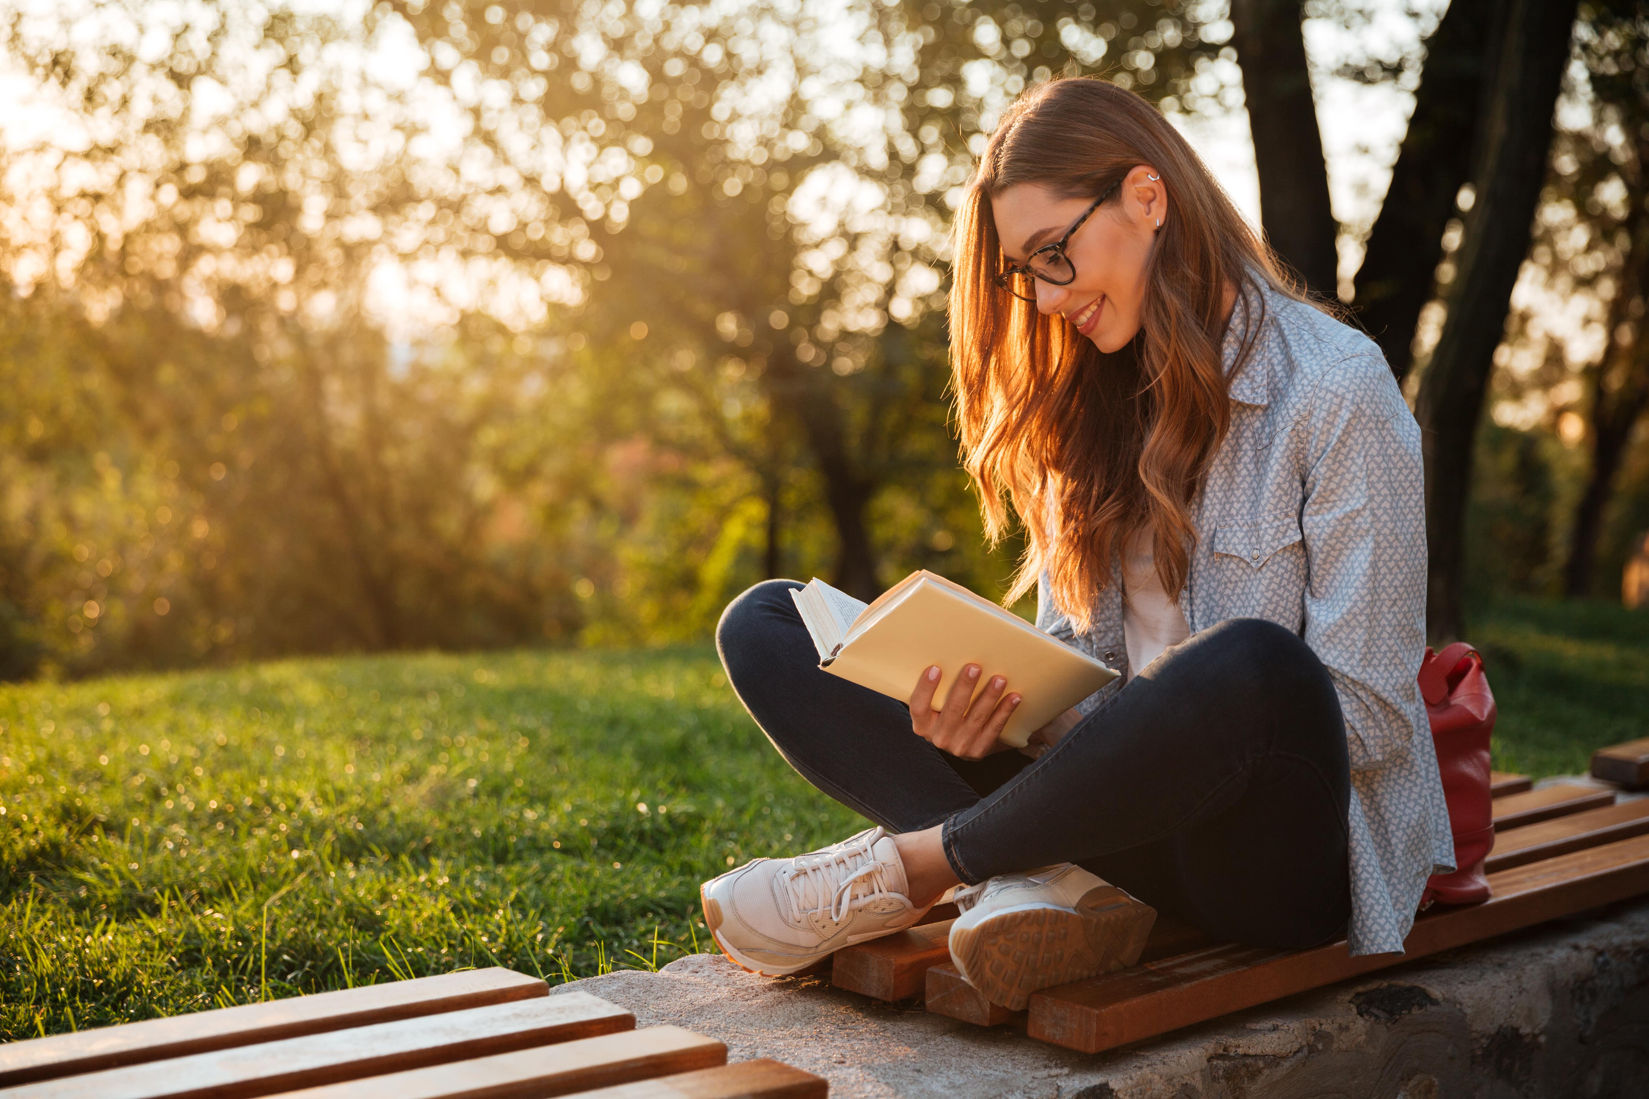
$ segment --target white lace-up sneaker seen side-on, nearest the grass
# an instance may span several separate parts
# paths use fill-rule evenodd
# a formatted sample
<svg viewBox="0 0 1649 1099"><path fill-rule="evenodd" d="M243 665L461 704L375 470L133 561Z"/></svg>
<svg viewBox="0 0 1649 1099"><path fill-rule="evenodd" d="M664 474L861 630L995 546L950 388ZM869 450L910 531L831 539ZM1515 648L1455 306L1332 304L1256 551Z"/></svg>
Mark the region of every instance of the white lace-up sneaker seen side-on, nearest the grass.
<svg viewBox="0 0 1649 1099"><path fill-rule="evenodd" d="M699 901L727 957L782 977L912 926L927 908L905 888L899 849L876 827L806 855L747 862L701 885Z"/></svg>

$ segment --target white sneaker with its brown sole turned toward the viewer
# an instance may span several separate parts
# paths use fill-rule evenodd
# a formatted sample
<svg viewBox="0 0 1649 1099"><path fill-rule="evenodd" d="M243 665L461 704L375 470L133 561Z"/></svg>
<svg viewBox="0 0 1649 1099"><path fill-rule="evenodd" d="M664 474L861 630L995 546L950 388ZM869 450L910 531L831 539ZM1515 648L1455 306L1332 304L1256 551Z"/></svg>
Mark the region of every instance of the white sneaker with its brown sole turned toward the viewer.
<svg viewBox="0 0 1649 1099"><path fill-rule="evenodd" d="M950 959L1014 1012L1039 989L1133 966L1156 923L1154 908L1072 863L1003 873L953 900Z"/></svg>

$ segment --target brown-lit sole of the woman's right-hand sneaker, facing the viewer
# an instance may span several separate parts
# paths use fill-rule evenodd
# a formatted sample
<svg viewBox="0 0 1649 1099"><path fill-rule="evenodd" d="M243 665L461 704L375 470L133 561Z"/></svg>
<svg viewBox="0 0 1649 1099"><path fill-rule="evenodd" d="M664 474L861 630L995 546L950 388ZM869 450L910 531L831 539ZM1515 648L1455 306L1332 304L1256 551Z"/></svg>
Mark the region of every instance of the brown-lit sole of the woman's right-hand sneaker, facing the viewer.
<svg viewBox="0 0 1649 1099"><path fill-rule="evenodd" d="M951 924L950 954L991 1003L1022 1012L1031 994L1139 961L1156 910L1106 885L1077 908L1022 905Z"/></svg>

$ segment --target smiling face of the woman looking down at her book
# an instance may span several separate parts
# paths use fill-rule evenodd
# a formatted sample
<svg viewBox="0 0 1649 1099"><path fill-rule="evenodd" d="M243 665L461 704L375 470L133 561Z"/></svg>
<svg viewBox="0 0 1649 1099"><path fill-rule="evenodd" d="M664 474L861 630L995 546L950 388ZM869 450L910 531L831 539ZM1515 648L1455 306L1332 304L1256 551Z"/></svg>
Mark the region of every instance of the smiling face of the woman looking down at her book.
<svg viewBox="0 0 1649 1099"><path fill-rule="evenodd" d="M1123 180L1116 198L1095 209L1065 242L1075 280L1057 287L1037 278L1036 306L1059 313L1100 351L1118 351L1139 331L1144 267L1156 232L1167 222L1167 188L1149 165ZM996 236L1009 264L1065 236L1097 194L1059 198L1037 183L1021 183L991 198ZM998 293L1008 293L998 290Z"/></svg>

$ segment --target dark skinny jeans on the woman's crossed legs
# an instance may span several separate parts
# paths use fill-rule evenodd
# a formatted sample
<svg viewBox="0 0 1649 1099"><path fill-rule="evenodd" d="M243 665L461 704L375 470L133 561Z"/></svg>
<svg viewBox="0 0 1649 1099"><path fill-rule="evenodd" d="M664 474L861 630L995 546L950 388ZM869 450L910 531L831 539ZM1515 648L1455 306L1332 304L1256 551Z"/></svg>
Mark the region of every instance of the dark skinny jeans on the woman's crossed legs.
<svg viewBox="0 0 1649 1099"><path fill-rule="evenodd" d="M890 832L943 824L963 882L1075 862L1219 939L1294 949L1344 929L1346 730L1327 669L1288 629L1219 623L1039 760L961 760L902 702L818 667L800 587L767 580L727 606L727 679L813 786Z"/></svg>

